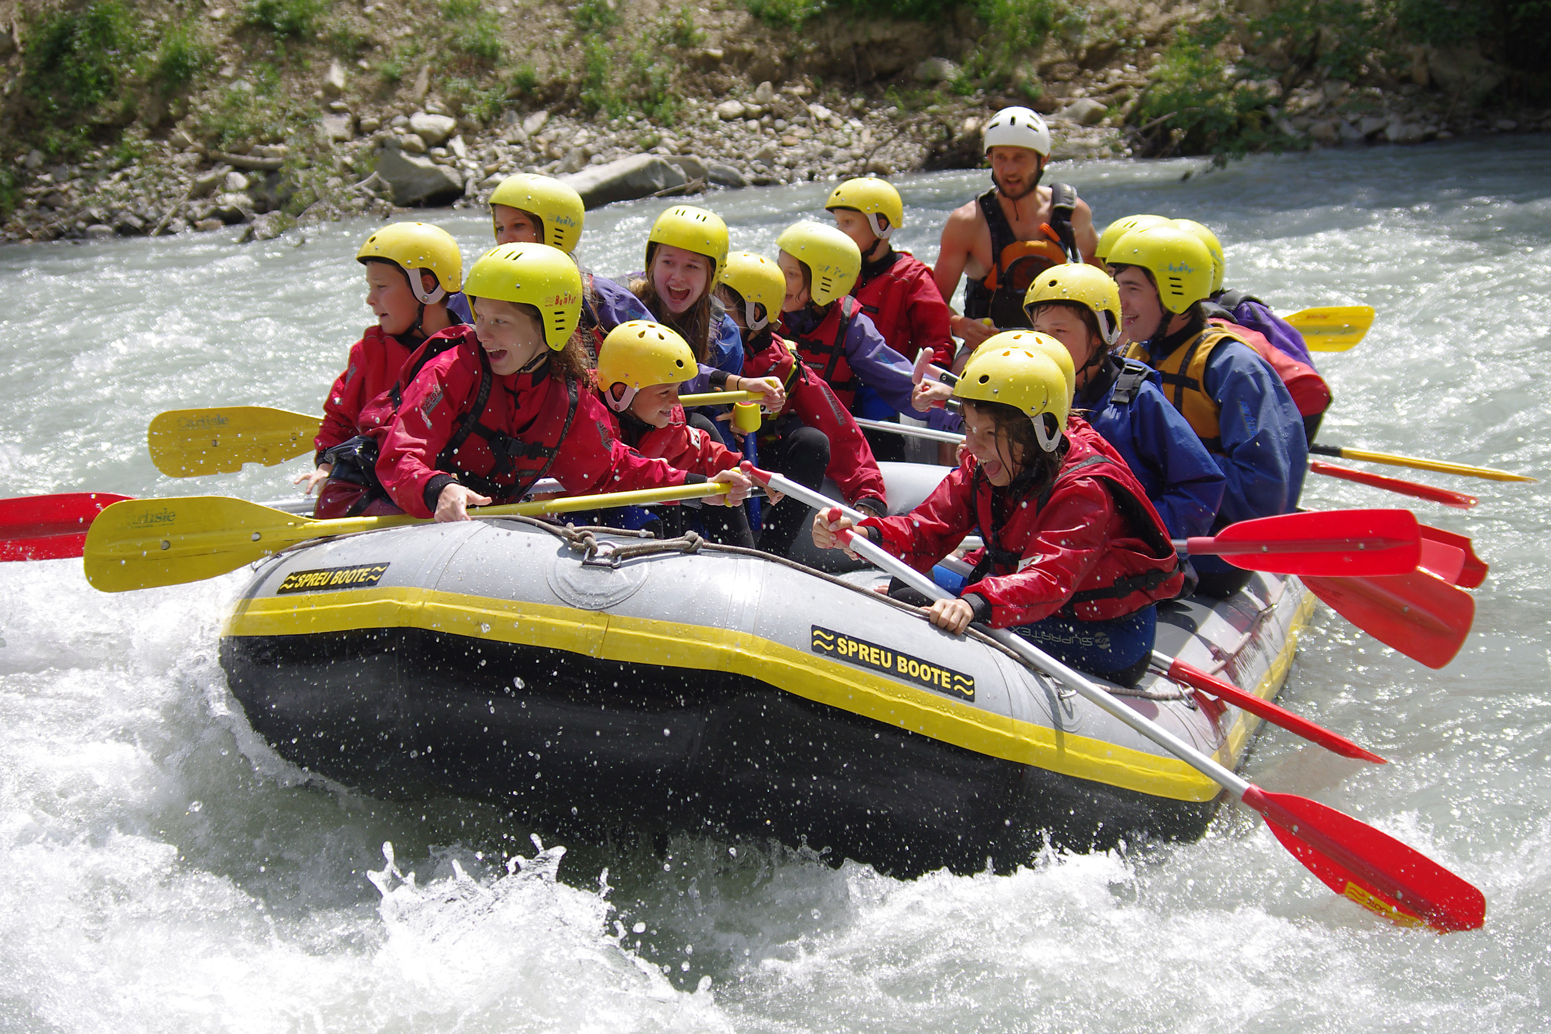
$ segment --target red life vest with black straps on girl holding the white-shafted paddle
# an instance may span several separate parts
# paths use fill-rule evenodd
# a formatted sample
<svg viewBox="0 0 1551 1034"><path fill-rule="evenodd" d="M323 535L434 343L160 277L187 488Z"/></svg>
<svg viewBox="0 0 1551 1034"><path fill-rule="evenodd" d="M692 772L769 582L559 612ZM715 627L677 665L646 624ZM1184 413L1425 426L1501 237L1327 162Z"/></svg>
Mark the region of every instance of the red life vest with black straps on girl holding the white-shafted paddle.
<svg viewBox="0 0 1551 1034"><path fill-rule="evenodd" d="M1062 462L1055 481L1039 493L1030 510L1024 508L1021 499L1005 499L1003 508L1016 515L1016 521L997 512L997 491L979 467L976 468L976 522L985 543L985 552L977 558L974 570L965 580L966 584L1022 569L1028 563L1024 558L1024 550L1007 549L1003 544L1008 532L1014 538L1022 536L1027 543L1027 527L1038 521L1039 512L1045 508L1053 495L1076 477L1098 477L1109 491L1115 510L1129 526L1131 538L1124 539L1124 546L1111 544L1104 560L1084 580L1083 584L1087 588L1078 589L1062 605L1061 614L1078 620L1107 620L1135 612L1149 603L1171 600L1179 594L1183 574L1162 518L1124 462L1118 456L1106 454L1104 450L1112 451L1112 448L1107 443L1100 448L1086 436L1103 442L1086 425L1081 426L1081 431L1076 429L1076 422L1069 426L1067 443L1072 453ZM1014 522L1024 527L1008 527Z"/></svg>

